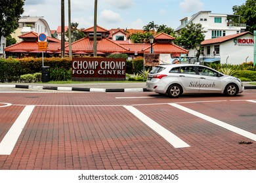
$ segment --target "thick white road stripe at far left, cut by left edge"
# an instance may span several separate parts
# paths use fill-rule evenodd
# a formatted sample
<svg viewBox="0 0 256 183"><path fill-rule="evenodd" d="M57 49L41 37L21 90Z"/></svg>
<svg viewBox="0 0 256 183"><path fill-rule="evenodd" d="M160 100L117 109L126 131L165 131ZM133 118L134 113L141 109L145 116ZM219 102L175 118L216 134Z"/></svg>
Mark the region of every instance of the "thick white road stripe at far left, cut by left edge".
<svg viewBox="0 0 256 183"><path fill-rule="evenodd" d="M0 143L0 155L10 155L35 105L26 106Z"/></svg>

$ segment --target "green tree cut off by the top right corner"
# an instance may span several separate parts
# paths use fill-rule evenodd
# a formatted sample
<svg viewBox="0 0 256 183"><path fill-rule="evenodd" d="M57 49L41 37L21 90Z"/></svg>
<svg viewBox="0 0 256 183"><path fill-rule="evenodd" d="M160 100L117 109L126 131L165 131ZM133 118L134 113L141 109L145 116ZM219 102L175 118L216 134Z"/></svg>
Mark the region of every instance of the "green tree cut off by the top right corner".
<svg viewBox="0 0 256 183"><path fill-rule="evenodd" d="M232 7L234 14L241 16L241 22L246 23L247 31L256 30L256 0L247 0L241 6Z"/></svg>

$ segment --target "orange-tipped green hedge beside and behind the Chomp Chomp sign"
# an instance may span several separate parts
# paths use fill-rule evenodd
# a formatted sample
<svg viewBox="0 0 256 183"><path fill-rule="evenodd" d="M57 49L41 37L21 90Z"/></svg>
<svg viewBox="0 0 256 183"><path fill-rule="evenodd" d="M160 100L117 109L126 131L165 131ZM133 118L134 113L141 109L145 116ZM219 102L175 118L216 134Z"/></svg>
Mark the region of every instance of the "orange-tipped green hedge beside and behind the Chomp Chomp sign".
<svg viewBox="0 0 256 183"><path fill-rule="evenodd" d="M112 58L127 58L118 54ZM143 58L127 60L126 73L137 74L143 69ZM71 58L44 58L44 66L50 66L51 80L68 80L71 78ZM20 82L21 75L41 73L42 58L0 59L0 82Z"/></svg>

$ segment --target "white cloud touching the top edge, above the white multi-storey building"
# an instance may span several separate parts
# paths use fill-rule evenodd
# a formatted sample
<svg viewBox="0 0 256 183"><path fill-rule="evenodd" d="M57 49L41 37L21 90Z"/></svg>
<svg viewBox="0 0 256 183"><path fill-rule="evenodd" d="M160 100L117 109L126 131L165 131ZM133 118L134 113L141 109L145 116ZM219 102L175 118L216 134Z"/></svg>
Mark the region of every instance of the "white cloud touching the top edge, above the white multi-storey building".
<svg viewBox="0 0 256 183"><path fill-rule="evenodd" d="M182 12L190 13L203 10L203 3L200 0L184 0L180 3Z"/></svg>

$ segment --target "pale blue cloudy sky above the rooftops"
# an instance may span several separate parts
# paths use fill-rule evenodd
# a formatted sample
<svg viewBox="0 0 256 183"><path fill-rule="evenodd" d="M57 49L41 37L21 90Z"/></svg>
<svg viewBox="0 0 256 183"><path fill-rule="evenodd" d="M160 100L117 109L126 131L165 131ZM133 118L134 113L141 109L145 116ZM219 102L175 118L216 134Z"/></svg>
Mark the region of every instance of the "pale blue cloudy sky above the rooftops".
<svg viewBox="0 0 256 183"><path fill-rule="evenodd" d="M98 0L97 25L105 29L143 29L144 25L167 25L176 29L182 18L202 10L214 14L233 14L234 5L246 0ZM56 30L60 21L60 0L26 0L23 16L43 16L51 30ZM70 0L71 22L78 28L94 25L95 0ZM65 25L68 25L68 0L65 0Z"/></svg>

